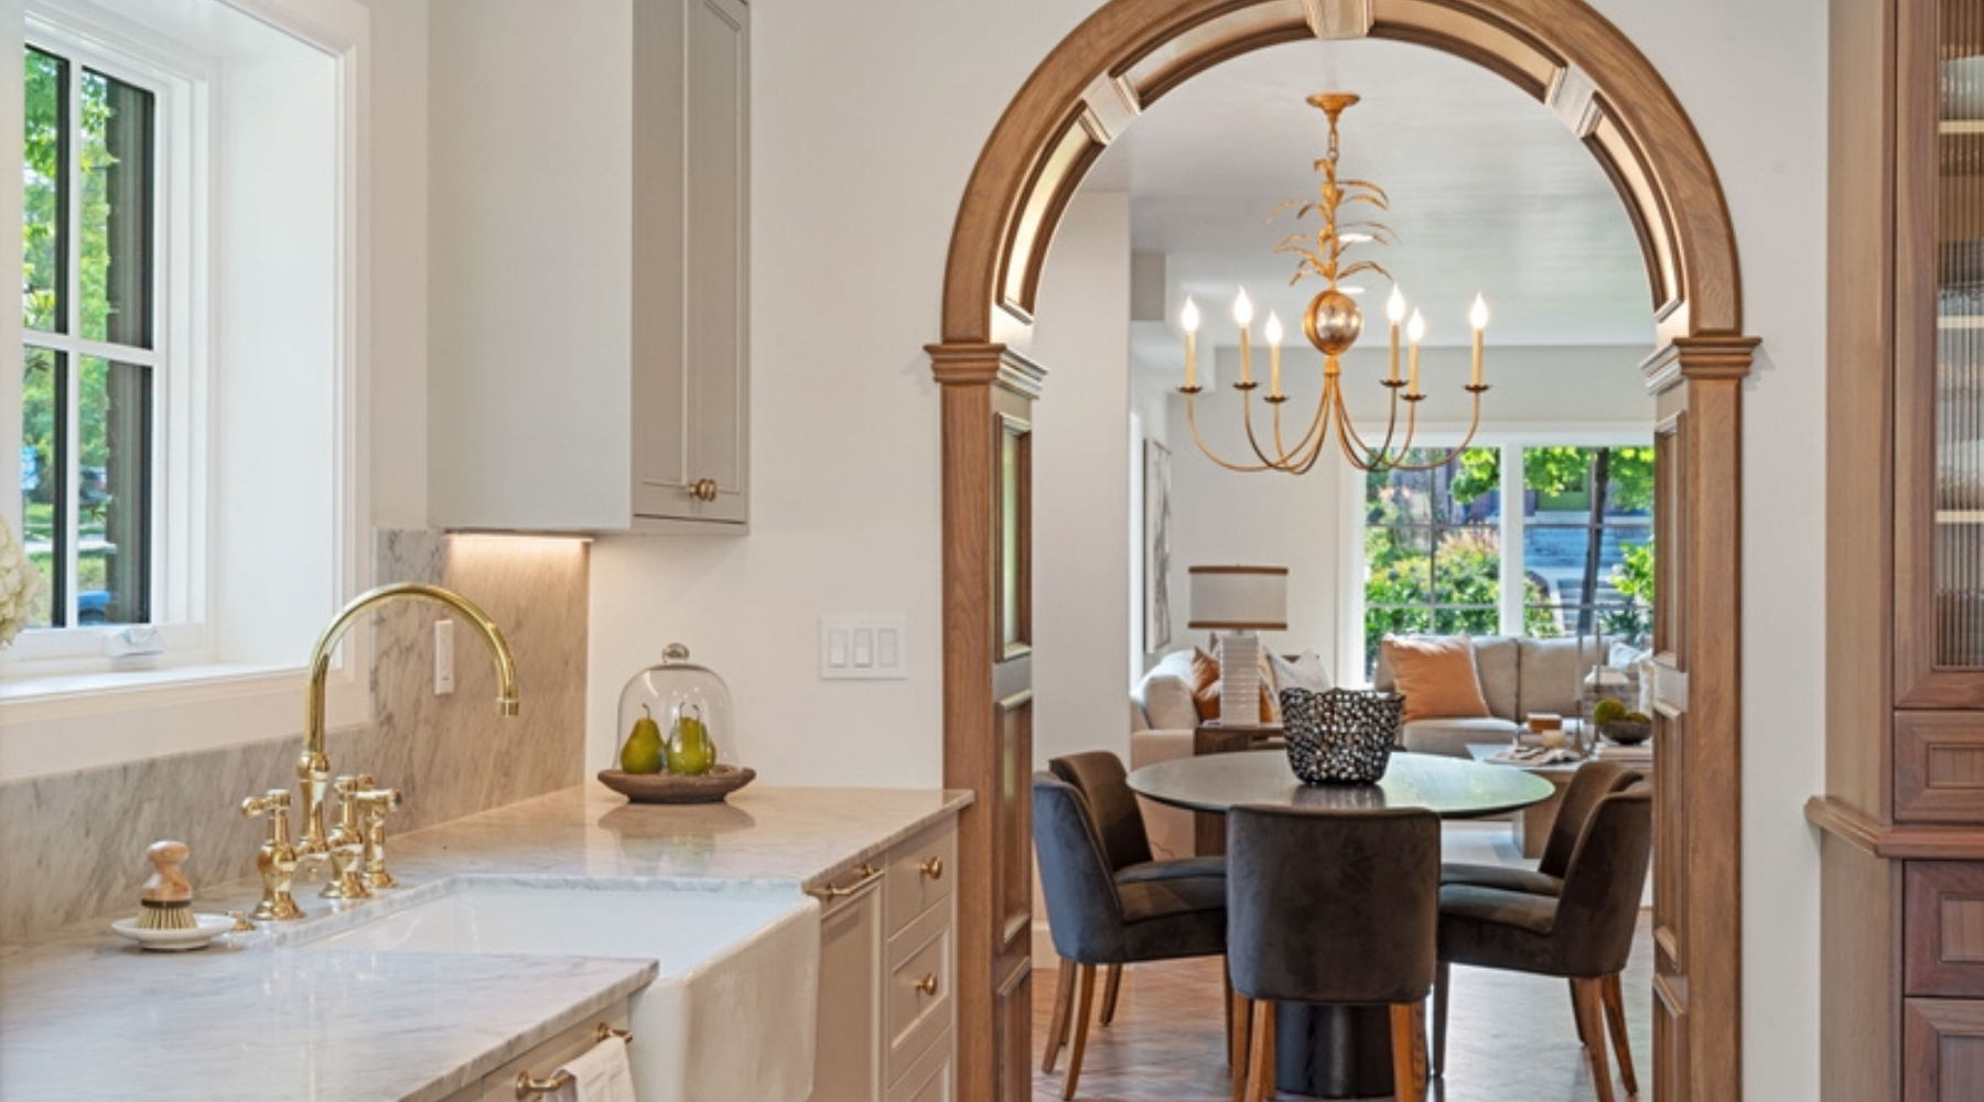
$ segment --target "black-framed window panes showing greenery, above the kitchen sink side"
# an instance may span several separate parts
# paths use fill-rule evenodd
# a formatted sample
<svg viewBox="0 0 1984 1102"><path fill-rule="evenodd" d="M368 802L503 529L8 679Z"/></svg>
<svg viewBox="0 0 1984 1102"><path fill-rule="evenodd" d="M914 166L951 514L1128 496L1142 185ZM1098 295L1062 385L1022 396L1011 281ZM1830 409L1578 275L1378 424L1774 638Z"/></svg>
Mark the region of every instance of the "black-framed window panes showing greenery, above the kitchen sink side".
<svg viewBox="0 0 1984 1102"><path fill-rule="evenodd" d="M157 93L60 46L24 57L22 543L32 628L149 624L161 355Z"/></svg>

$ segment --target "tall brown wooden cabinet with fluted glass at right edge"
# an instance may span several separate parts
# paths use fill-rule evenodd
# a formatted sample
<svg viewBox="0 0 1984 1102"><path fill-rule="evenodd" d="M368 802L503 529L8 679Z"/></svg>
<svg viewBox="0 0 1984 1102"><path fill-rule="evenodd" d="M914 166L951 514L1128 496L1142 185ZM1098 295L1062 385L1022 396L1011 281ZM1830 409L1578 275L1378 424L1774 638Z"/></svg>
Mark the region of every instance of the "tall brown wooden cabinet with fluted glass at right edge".
<svg viewBox="0 0 1984 1102"><path fill-rule="evenodd" d="M1984 0L1833 0L1829 151L1823 1098L1984 1098Z"/></svg>

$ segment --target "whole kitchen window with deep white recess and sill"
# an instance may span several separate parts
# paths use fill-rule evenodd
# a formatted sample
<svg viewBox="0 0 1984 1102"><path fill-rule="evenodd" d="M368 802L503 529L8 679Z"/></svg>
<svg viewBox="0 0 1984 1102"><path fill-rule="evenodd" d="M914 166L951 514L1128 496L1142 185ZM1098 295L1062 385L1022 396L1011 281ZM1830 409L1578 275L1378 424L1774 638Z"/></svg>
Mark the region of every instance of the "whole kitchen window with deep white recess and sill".
<svg viewBox="0 0 1984 1102"><path fill-rule="evenodd" d="M310 644L371 577L369 10L16 14L0 515L48 585L0 650L0 781L294 733ZM365 664L347 640L333 725Z"/></svg>

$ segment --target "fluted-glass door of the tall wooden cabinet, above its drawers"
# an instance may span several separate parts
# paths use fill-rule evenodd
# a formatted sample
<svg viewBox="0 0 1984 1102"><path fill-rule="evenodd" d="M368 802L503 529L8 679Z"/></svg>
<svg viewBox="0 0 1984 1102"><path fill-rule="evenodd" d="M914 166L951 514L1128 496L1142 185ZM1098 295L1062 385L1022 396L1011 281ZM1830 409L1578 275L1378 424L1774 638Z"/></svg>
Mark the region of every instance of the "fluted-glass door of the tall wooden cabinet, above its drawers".
<svg viewBox="0 0 1984 1102"><path fill-rule="evenodd" d="M1984 708L1984 6L1899 14L1895 694Z"/></svg>

